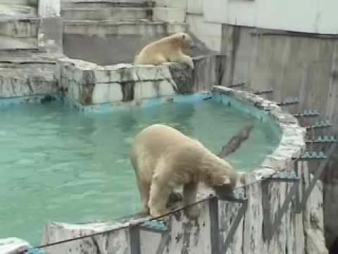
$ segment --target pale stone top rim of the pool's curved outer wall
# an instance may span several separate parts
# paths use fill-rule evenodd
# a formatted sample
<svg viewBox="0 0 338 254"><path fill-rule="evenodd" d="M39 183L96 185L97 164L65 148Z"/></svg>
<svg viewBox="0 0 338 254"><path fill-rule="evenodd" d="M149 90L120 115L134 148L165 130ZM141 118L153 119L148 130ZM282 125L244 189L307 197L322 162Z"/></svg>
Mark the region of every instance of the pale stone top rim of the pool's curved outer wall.
<svg viewBox="0 0 338 254"><path fill-rule="evenodd" d="M280 144L275 149L272 155L267 156L269 158L265 159L265 161L262 164L262 167L256 169L255 171L249 172L248 174L242 175L241 181L243 185L257 182L264 176L270 176L278 169L288 169L288 170L292 169L291 168L292 158L301 155L301 152L303 152L303 148L305 147L304 140L305 131L298 125L296 119L294 119L293 116L289 115L287 112L282 111L282 109L280 109L280 107L278 107L275 102L270 102L257 95L252 95L249 92L232 90L230 88L220 86L215 86L213 92L218 92L220 93L220 95L231 97L237 100L238 102L248 104L250 107L258 109L258 111L263 111L264 112L263 114L266 114L266 116L275 120L276 123L278 123L278 125L280 126L280 130L282 131ZM208 97L208 95L210 95L210 92L209 93L206 92L204 94L202 93L188 95L187 97L195 97L193 99L195 101L196 98L198 100L202 100L203 95ZM186 99L185 96L182 97ZM154 100L156 101L155 104L161 104L163 103L163 99L165 100L165 97L157 99L154 98L144 99L144 101L151 102L152 100ZM125 102L122 103L125 104ZM299 140L298 143L294 143L296 139ZM289 143L291 142L291 140L292 143ZM289 145L292 145L290 149ZM199 198L206 198L206 196L208 196L210 193L213 193L213 191L204 190L201 193L199 193ZM50 224L47 224L45 226L43 243L51 243L53 241L56 241L56 239L61 240L64 238L73 238L85 234L92 234L94 232L105 231L107 229L115 229L116 227L119 226L127 226L129 224L128 221L130 219L132 219L132 221L134 222L135 219L137 219L137 221L144 221L148 218L147 217L139 218L139 216L135 217L134 215L130 215L130 217L125 217L124 219L120 219L116 222L100 222L88 224L66 224L66 223L51 222ZM126 234L127 233L123 235L127 236ZM120 237L122 236L119 236L119 238ZM51 238L54 238L54 240L52 240ZM51 253L53 253L53 250Z"/></svg>

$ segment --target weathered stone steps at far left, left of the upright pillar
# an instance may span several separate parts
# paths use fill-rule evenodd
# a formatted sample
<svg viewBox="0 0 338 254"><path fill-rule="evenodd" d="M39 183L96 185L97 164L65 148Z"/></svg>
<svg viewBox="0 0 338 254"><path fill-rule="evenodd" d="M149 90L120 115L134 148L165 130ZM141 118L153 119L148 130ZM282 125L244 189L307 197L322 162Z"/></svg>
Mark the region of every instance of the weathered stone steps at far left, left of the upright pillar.
<svg viewBox="0 0 338 254"><path fill-rule="evenodd" d="M57 90L56 58L43 52L39 33L44 33L38 16L38 0L0 0L0 99L11 97L29 102ZM19 100L17 100L19 101Z"/></svg>

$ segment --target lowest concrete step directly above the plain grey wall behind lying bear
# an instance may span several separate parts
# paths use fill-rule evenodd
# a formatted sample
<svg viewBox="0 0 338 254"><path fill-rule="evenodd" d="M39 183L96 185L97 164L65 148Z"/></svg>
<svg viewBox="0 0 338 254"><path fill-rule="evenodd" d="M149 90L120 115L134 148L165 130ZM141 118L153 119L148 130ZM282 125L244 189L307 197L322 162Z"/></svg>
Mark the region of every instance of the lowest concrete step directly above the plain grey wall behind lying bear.
<svg viewBox="0 0 338 254"><path fill-rule="evenodd" d="M63 32L74 35L161 35L184 32L185 23L149 20L64 20Z"/></svg>

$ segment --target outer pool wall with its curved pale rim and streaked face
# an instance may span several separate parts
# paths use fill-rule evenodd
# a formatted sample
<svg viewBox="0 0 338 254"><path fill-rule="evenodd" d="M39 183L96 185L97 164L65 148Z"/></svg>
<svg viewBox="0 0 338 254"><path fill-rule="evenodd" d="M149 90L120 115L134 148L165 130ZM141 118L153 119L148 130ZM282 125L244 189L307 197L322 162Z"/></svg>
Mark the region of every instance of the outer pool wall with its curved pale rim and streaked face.
<svg viewBox="0 0 338 254"><path fill-rule="evenodd" d="M275 120L282 129L280 146L273 155L267 157L261 169L242 176L243 189L249 198L247 202L206 200L201 203L201 215L195 221L187 219L182 211L175 212L170 215L168 231L162 236L140 229L139 250L132 248L137 245L137 234L131 234L126 229L111 231L116 226L128 226L130 218L122 220L120 224L50 223L44 229L43 243L47 244L106 232L99 236L56 244L46 248L46 253L327 253L323 239L322 187L320 182L312 183L308 164L297 164L300 183L269 179L257 181L278 169L290 173L294 170L292 157L298 157L305 146L303 128L299 128L296 119L276 104L256 95L215 87L215 96L225 105L231 102L233 107L245 102L246 107L242 105L242 110L250 108L251 114L264 116L263 121ZM310 199L305 207L299 207L294 194L299 193L303 200L304 193L312 185L314 189ZM199 198L206 198L210 193L205 188L200 188L199 191ZM144 219L146 218L134 217L132 224ZM216 250L217 247L220 247L220 251Z"/></svg>

